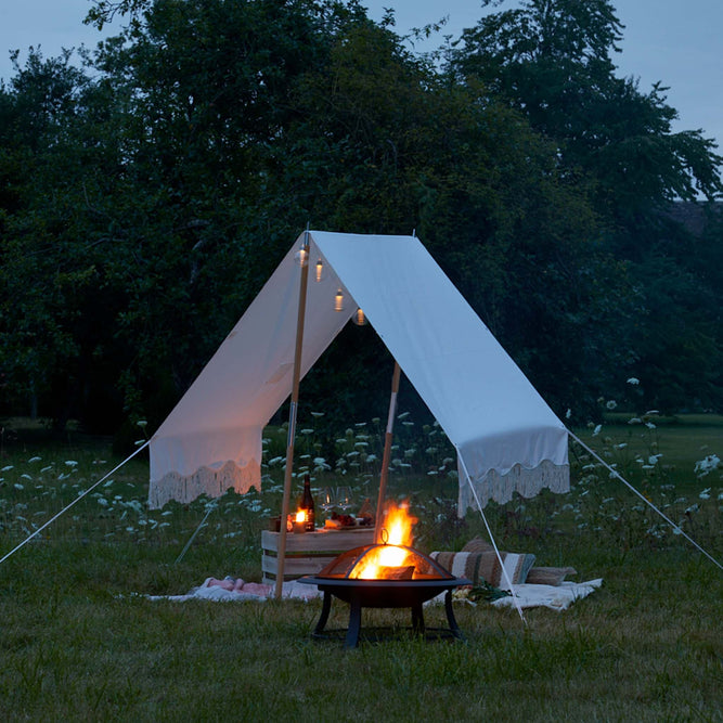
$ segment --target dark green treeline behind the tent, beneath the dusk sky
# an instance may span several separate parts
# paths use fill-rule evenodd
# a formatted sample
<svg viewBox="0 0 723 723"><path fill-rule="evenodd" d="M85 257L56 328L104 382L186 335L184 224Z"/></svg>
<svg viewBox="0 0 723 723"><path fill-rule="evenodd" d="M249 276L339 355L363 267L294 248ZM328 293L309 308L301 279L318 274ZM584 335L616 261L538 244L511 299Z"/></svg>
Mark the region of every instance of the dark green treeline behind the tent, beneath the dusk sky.
<svg viewBox="0 0 723 723"><path fill-rule="evenodd" d="M616 75L610 2L518 4L423 55L356 1L95 0L80 66L16 61L0 413L153 428L307 223L415 230L559 414L721 411L723 158ZM383 413L385 354L343 333L306 403Z"/></svg>

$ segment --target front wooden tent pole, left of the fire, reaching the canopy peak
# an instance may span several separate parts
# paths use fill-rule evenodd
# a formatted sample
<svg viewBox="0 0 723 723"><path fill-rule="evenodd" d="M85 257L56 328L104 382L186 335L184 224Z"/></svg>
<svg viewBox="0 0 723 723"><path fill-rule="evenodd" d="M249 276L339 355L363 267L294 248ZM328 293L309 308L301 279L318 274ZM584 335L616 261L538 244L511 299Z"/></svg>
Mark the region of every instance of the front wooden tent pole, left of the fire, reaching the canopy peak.
<svg viewBox="0 0 723 723"><path fill-rule="evenodd" d="M299 285L299 311L296 320L296 349L294 350L294 380L292 384L292 404L288 411L288 435L286 437L286 469L284 473L284 496L281 503L281 526L279 528L279 551L276 557L276 586L274 596L280 599L284 584L284 561L286 559L286 520L288 502L292 493L292 473L294 472L294 439L296 437L296 410L299 402L299 379L301 377L301 350L304 348L304 319L307 309L307 287L309 283L309 231L304 236L304 246L299 250L301 259L301 283Z"/></svg>

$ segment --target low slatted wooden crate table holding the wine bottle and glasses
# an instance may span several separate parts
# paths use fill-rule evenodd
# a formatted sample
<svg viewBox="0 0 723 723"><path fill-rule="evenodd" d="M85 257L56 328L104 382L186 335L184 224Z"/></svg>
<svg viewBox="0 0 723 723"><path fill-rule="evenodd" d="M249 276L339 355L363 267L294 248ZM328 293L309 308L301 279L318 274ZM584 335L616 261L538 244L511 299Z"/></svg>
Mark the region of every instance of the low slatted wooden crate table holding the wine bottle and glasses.
<svg viewBox="0 0 723 723"><path fill-rule="evenodd" d="M279 570L279 532L261 532L261 571L267 584L276 581ZM286 534L284 580L294 580L302 574L315 574L347 550L371 545L374 542L374 526L354 527L346 530L317 530Z"/></svg>

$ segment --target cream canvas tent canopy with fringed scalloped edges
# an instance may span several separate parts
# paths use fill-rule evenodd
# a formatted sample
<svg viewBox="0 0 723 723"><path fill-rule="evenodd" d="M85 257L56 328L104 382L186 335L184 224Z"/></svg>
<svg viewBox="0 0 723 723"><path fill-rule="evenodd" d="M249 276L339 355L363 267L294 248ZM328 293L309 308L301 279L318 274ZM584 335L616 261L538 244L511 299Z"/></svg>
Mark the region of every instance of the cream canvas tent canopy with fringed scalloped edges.
<svg viewBox="0 0 723 723"><path fill-rule="evenodd" d="M151 439L152 507L260 488L261 432L292 392L302 240ZM301 377L360 307L457 450L461 514L514 491L569 489L565 426L418 238L308 240Z"/></svg>

